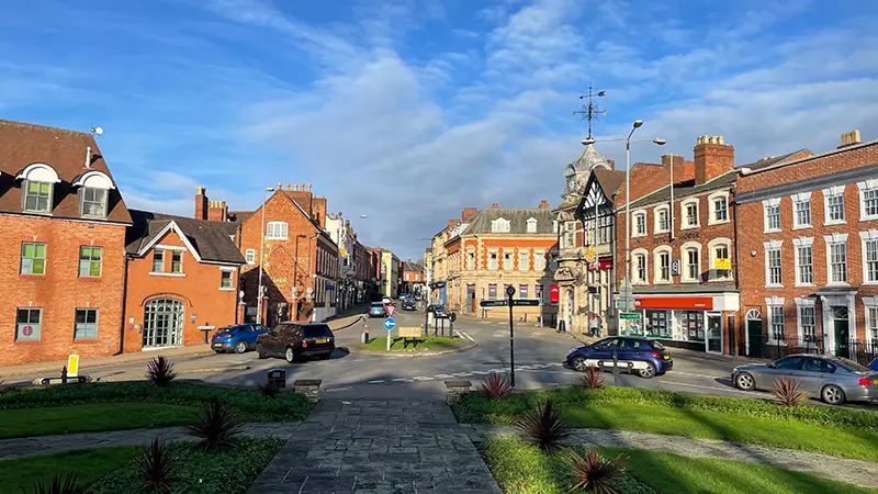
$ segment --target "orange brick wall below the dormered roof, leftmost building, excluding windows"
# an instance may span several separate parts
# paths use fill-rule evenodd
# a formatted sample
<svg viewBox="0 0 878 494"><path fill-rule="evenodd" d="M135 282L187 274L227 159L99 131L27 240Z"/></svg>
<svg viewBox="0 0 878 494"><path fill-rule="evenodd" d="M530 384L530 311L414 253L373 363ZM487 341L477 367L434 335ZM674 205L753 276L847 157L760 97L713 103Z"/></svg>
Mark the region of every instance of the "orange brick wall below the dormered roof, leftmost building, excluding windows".
<svg viewBox="0 0 878 494"><path fill-rule="evenodd" d="M119 351L125 227L90 222L0 215L0 366L100 357ZM22 242L46 244L43 276L20 274ZM81 278L79 247L103 247L100 278ZM40 341L15 341L18 307L42 307ZM76 310L98 308L98 338L74 340ZM58 369L60 371L60 369Z"/></svg>

